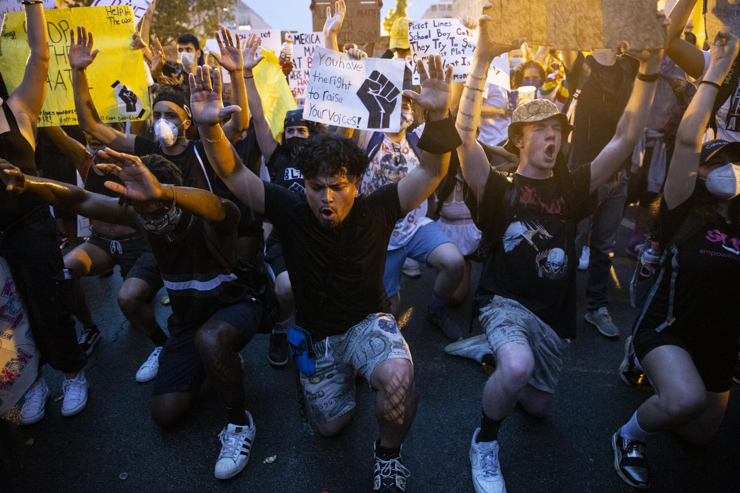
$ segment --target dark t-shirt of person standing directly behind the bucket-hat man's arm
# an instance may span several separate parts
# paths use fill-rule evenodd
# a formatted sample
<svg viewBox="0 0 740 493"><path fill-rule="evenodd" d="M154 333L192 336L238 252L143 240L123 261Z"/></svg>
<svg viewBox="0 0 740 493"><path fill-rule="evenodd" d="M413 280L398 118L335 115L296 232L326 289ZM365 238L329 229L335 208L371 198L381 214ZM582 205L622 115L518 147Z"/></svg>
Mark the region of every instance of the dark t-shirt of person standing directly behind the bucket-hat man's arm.
<svg viewBox="0 0 740 493"><path fill-rule="evenodd" d="M580 90L571 138L571 168L590 163L616 133L616 124L625 111L639 64L634 58L616 57L613 65L579 52L568 87Z"/></svg>

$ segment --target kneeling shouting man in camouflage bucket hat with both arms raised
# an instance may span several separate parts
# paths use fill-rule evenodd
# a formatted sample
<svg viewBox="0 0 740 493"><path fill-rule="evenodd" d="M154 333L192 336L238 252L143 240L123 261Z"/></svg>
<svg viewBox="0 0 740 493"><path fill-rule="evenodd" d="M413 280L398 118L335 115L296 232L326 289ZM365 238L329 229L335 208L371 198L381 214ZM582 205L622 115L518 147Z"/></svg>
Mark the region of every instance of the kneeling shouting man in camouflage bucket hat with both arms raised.
<svg viewBox="0 0 740 493"><path fill-rule="evenodd" d="M462 137L457 153L465 203L490 247L473 303L486 340L471 345L487 344L496 357L496 370L483 390L480 428L471 440L471 476L477 493L506 491L498 431L517 402L536 417L548 412L563 353L576 336L576 223L592 213L591 194L614 174L642 136L662 58L662 50L635 54L640 74L616 135L593 162L572 172L560 152L573 130L565 115L551 101L519 106L505 144L508 152L519 156L517 172L509 178L491 168L476 133L491 61L524 39L511 45L492 43L485 29L490 20L480 17L456 123Z"/></svg>

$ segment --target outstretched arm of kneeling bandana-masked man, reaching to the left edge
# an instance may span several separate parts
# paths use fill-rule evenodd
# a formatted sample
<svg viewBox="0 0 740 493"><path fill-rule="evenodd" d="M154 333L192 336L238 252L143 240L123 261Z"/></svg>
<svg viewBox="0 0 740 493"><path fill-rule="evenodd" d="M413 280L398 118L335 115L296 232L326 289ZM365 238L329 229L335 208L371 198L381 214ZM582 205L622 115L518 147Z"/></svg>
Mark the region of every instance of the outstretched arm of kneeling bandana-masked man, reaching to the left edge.
<svg viewBox="0 0 740 493"><path fill-rule="evenodd" d="M54 208L64 209L92 220L138 228L138 220L133 209L118 205L118 199L114 197L92 194L67 183L23 174L20 169L5 160L0 160L0 172L5 189L10 193L33 194Z"/></svg>

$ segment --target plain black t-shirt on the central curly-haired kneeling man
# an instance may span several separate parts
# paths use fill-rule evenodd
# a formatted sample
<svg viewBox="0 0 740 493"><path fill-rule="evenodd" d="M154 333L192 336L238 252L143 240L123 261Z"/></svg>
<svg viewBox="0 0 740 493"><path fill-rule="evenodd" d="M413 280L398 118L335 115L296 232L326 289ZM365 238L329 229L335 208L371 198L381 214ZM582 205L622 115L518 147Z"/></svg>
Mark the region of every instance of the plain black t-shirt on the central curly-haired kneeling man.
<svg viewBox="0 0 740 493"><path fill-rule="evenodd" d="M388 313L386 250L403 217L397 184L360 194L336 229L320 228L305 194L273 183L264 186L265 217L280 234L298 324L318 340L345 333L371 313ZM343 248L334 254L340 239ZM330 262L339 264L332 279L325 280ZM323 307L322 290L328 295Z"/></svg>

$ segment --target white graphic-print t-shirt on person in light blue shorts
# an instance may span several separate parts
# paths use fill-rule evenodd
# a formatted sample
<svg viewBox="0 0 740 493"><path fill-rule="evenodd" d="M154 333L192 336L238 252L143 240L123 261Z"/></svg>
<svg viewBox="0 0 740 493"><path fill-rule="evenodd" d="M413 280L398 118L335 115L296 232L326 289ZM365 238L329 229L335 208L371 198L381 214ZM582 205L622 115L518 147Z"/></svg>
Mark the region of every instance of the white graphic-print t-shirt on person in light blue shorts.
<svg viewBox="0 0 740 493"><path fill-rule="evenodd" d="M383 143L380 144L380 149L375 153L363 176L360 193L371 194L383 185L398 183L401 178L419 166L419 158L420 156L417 156L408 145L406 137L403 137L399 143L394 143L388 135L383 135ZM414 237L417 229L432 222L426 217L426 211L425 200L422 205L396 222L391 240L388 242L388 250L395 250L406 245Z"/></svg>

